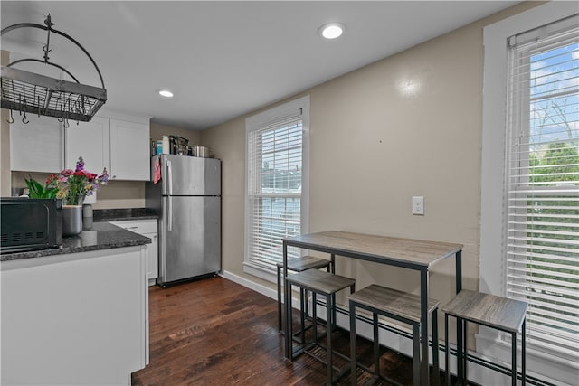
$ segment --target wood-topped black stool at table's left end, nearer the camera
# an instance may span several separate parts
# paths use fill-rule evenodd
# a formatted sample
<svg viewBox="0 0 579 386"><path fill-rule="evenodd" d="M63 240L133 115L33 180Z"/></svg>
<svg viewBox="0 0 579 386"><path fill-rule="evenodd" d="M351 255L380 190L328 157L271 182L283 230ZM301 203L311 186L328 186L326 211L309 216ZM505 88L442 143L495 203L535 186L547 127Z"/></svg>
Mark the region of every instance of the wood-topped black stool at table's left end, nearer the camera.
<svg viewBox="0 0 579 386"><path fill-rule="evenodd" d="M300 315L300 323L301 323L301 342L302 346L299 348L298 351L294 352L292 347L289 347L289 360L293 361L294 355L297 353L308 353L308 350L313 346L319 346L325 348L326 350L326 365L327 365L327 384L332 384L335 380L339 379L342 375L349 371L349 366L344 366L342 369L337 369L336 377L333 376L334 374L334 365L333 365L333 355L337 354L346 360L349 361L344 355L339 353L334 353L332 350L332 311L336 307L335 305L335 297L334 295L337 291L350 287L350 293L354 292L356 287L356 280L353 278L346 278L343 276L334 275L332 273L320 271L318 269L308 269L302 272L298 272L293 275L289 275L286 278L286 283L289 287L289 293L291 293L291 286L299 287L300 289L307 289L313 293L314 303L313 303L313 310L312 310L312 340L308 343L306 342L306 335L305 335L305 316L304 310L302 309L299 313ZM326 297L326 347L318 344L318 317L316 312L316 295L321 295ZM288 299L289 309L291 309L291 297ZM288 318L291 320L291 317ZM287 333L291 336L292 330L292 323L288 324L288 331ZM318 356L308 353L314 359L324 362Z"/></svg>

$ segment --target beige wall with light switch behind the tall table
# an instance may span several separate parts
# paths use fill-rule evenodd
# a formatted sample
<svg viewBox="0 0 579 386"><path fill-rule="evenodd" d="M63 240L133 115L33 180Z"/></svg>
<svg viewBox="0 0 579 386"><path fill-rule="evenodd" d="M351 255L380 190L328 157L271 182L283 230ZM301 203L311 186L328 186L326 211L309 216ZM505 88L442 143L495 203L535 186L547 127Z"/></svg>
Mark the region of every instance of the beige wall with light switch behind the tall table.
<svg viewBox="0 0 579 386"><path fill-rule="evenodd" d="M309 231L464 244L463 287L478 289L482 28L536 5L517 5L290 98L311 98ZM242 268L244 135L245 117L201 133L223 160L223 270L271 290ZM411 214L413 195L424 196L423 217ZM431 275L431 296L442 304L453 295L453 271L449 260ZM337 272L356 277L356 287L419 287L418 275L401 268L338 258Z"/></svg>

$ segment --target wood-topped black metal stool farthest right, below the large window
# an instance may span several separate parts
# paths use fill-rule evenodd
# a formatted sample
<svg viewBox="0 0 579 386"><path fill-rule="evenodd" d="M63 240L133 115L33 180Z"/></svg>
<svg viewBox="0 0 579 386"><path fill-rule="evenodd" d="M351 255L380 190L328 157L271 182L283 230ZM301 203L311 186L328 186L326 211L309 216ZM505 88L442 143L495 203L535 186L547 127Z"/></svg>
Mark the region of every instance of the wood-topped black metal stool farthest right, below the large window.
<svg viewBox="0 0 579 386"><path fill-rule="evenodd" d="M462 347L458 352L462 357L463 379L462 384L467 384L467 322L496 328L511 334L511 383L517 384L517 332L522 331L521 340L521 379L525 385L525 321L527 315L527 302L507 297L498 297L490 294L482 294L476 291L463 289L456 297L442 307L444 312L444 344L446 344L446 384L451 384L449 366L449 315L456 317L457 324L462 326ZM460 350L461 349L461 350Z"/></svg>

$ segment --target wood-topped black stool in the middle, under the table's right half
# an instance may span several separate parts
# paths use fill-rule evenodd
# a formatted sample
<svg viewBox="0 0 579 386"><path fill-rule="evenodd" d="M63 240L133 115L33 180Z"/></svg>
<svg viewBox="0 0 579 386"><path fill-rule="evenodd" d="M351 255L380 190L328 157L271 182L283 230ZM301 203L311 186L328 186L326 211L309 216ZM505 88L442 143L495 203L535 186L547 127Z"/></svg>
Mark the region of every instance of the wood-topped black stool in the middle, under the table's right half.
<svg viewBox="0 0 579 386"><path fill-rule="evenodd" d="M378 286L376 284L365 287L350 298L350 356L352 384L356 385L356 368L372 372L368 367L356 360L356 307L372 312L374 327L374 376L369 382L379 379L393 382L380 375L380 357L378 340L378 315L398 320L413 327L413 384L420 384L420 331L428 328L420 325L420 297L398 291L396 289ZM438 323L437 310L440 302L428 299L428 312L432 315L432 367L434 368L434 384L439 384L439 356L438 356ZM396 383L394 381L394 383Z"/></svg>

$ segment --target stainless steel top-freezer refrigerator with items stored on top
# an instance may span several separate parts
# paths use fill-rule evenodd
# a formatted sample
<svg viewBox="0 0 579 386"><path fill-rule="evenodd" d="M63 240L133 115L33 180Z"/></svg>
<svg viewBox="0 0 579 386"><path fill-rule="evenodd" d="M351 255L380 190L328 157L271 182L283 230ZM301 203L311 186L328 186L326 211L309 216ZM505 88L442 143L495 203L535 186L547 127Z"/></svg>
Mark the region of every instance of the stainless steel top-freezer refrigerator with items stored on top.
<svg viewBox="0 0 579 386"><path fill-rule="evenodd" d="M221 161L187 155L152 157L147 208L159 213L159 276L166 287L221 269Z"/></svg>

